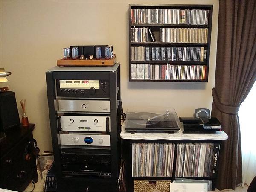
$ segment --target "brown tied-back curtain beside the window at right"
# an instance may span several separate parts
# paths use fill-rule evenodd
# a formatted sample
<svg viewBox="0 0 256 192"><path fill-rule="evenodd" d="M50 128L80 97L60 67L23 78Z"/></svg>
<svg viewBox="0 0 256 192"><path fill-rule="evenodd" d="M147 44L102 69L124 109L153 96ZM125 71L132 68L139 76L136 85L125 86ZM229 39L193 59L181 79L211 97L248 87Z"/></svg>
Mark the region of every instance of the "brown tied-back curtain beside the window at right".
<svg viewBox="0 0 256 192"><path fill-rule="evenodd" d="M256 80L256 1L220 0L215 88L212 116L228 140L221 146L217 188L235 189L242 183L238 111Z"/></svg>

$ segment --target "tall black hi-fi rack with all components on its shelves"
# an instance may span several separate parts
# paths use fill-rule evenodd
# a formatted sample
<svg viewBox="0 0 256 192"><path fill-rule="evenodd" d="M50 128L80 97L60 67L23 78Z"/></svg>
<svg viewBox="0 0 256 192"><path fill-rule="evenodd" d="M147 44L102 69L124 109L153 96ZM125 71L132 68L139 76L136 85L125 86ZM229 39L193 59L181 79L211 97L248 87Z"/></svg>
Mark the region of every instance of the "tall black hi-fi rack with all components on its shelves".
<svg viewBox="0 0 256 192"><path fill-rule="evenodd" d="M120 64L46 72L57 191L118 191Z"/></svg>

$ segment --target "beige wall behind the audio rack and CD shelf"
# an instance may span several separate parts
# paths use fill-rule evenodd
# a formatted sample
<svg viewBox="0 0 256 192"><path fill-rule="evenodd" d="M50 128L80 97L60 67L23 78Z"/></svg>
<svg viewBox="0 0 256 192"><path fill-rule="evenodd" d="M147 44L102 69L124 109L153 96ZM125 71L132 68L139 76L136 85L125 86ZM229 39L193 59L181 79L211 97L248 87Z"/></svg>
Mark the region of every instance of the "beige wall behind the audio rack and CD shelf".
<svg viewBox="0 0 256 192"><path fill-rule="evenodd" d="M128 4L213 4L212 41L208 83L129 82ZM1 66L11 71L9 86L18 102L26 99L29 122L41 151L52 150L45 72L70 45L113 45L121 63L124 109L170 106L178 116L195 108L211 108L214 87L218 0L170 1L3 1Z"/></svg>

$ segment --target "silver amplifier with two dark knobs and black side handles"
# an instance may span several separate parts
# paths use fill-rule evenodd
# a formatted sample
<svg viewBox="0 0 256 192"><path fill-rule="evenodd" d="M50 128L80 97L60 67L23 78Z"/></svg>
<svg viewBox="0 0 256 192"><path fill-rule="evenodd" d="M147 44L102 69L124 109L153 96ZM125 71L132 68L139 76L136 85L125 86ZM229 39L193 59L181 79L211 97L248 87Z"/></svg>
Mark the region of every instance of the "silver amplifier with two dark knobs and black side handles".
<svg viewBox="0 0 256 192"><path fill-rule="evenodd" d="M62 131L109 132L109 116L58 116L58 126Z"/></svg>

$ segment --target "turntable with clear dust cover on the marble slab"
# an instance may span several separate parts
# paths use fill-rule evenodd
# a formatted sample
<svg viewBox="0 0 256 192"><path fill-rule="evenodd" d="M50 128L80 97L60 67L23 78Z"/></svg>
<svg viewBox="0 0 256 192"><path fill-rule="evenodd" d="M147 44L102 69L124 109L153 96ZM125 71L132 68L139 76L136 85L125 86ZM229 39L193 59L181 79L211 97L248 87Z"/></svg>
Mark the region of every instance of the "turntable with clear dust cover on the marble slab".
<svg viewBox="0 0 256 192"><path fill-rule="evenodd" d="M166 111L127 111L125 130L128 132L168 132L179 130L174 109Z"/></svg>

